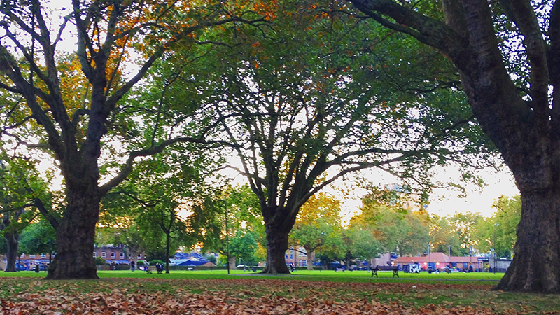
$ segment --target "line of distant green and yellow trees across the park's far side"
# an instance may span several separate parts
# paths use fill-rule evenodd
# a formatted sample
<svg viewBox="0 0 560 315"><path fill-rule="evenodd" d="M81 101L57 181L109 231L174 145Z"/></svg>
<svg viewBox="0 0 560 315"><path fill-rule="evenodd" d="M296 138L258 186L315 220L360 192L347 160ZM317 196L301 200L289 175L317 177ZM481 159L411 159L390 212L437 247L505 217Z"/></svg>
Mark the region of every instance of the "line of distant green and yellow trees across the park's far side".
<svg viewBox="0 0 560 315"><path fill-rule="evenodd" d="M241 262L249 266L258 265L266 257L266 235L259 224L262 217L256 210L256 198L247 186L228 188L227 191L229 197L215 205L218 209L216 214L223 217L214 223L214 228L220 232L207 235L204 239L192 233L189 228L192 221L188 218L176 216L176 228L168 234L169 230L162 228L158 221L162 218L169 220L169 213L161 216L160 209L149 209L151 213L139 209L138 216L130 216L130 211L125 215L117 211L120 214L118 218L104 218L102 222L106 226L100 224L97 228L96 244L123 244L133 256L144 252L148 260L163 262L173 258L179 249L187 252L200 249L205 253L219 253L216 263L225 265L228 246L225 242L223 207L227 203L230 266ZM314 264L325 267L334 261L353 265L358 260L378 258L382 253L423 255L428 244L431 252L446 255L449 246L451 255L458 256L489 253L491 248L496 248L497 257L512 258L521 211L519 196L500 196L493 205L496 211L488 218L475 212L436 216L429 214L426 208L420 208L417 200L411 198L409 193L374 189L363 197L358 214L343 227L340 201L332 195L320 193L302 207L290 233L290 248L307 255L305 265L308 269L312 269ZM169 211L173 210L176 211L176 208L169 207ZM165 226L170 226L170 221L165 223ZM204 229L202 225L199 228ZM492 244L494 233L496 242ZM6 251L6 240L1 244L2 250ZM54 230L46 222L39 221L22 230L18 253L51 253L55 251L54 244Z"/></svg>

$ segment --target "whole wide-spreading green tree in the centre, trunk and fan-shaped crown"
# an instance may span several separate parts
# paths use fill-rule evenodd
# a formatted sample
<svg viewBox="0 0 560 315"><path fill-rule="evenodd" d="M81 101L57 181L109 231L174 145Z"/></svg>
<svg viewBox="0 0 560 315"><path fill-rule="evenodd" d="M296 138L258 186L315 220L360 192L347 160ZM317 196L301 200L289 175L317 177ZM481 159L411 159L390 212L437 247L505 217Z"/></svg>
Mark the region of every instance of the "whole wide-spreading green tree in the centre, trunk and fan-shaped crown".
<svg viewBox="0 0 560 315"><path fill-rule="evenodd" d="M214 139L230 143L239 172L258 196L267 235L265 273L289 272L284 253L300 207L336 179L379 167L423 181L430 167L419 167L420 161L460 156L444 144L454 143L462 153L472 149L463 146L472 132L470 113L461 106L449 113L428 101L447 94L460 104L453 91L412 97L399 93L397 84L377 81L383 69L400 67L400 60L391 59L391 34L363 36L365 25L345 24L360 21L325 13L314 3L277 6L275 25L261 32L236 29L231 38L237 42L216 48L214 59L201 59L196 73L182 76L189 78L182 83L193 91L191 98L204 96L203 106L221 127ZM370 66L370 54L380 58L380 69ZM413 104L406 101L425 111L409 111ZM428 112L438 114L423 115Z"/></svg>

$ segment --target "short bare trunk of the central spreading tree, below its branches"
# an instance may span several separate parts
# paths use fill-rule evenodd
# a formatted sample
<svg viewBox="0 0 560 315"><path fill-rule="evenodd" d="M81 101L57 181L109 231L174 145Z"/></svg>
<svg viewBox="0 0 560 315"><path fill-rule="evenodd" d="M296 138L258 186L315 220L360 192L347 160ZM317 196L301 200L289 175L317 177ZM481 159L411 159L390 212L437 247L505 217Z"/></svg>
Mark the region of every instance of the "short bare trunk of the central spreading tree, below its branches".
<svg viewBox="0 0 560 315"><path fill-rule="evenodd" d="M267 233L267 267L262 270L263 274L289 274L286 265L286 251L288 250L288 234L290 229L286 225L272 225L265 223Z"/></svg>

